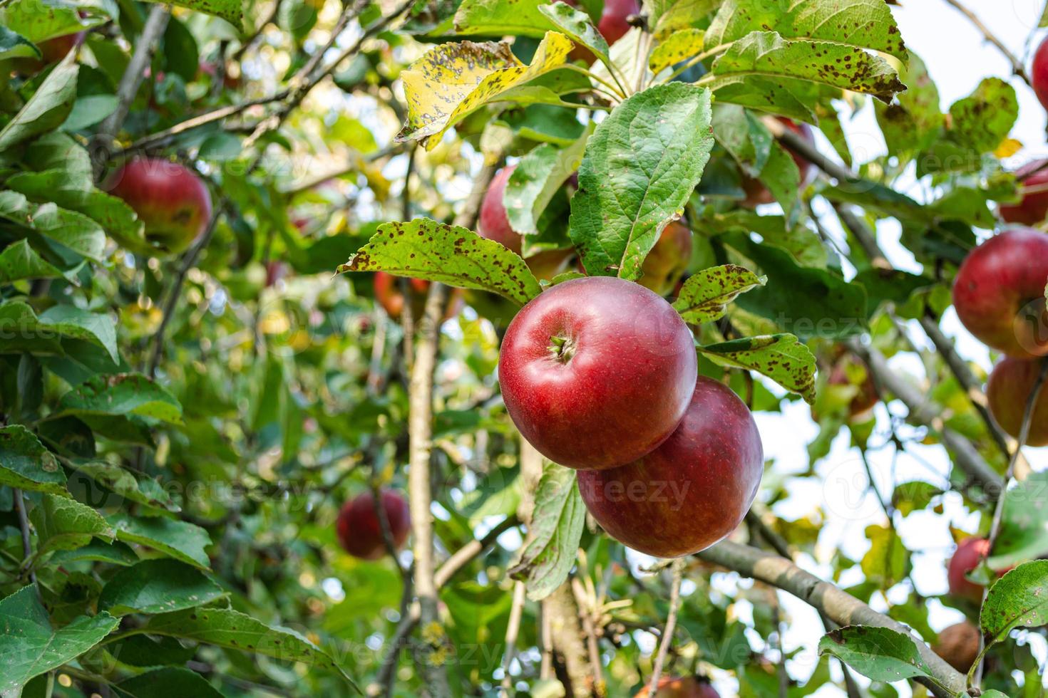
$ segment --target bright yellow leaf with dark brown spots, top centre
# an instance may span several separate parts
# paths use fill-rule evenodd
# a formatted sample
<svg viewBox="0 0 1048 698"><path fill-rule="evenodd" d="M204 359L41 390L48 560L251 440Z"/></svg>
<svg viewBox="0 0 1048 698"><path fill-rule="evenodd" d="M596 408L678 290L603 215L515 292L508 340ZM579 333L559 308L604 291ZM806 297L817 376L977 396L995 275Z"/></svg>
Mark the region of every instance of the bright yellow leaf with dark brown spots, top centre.
<svg viewBox="0 0 1048 698"><path fill-rule="evenodd" d="M418 140L432 150L456 121L510 88L562 65L572 47L563 33L547 31L531 65L524 65L504 42L437 46L400 73L408 123L397 140Z"/></svg>

